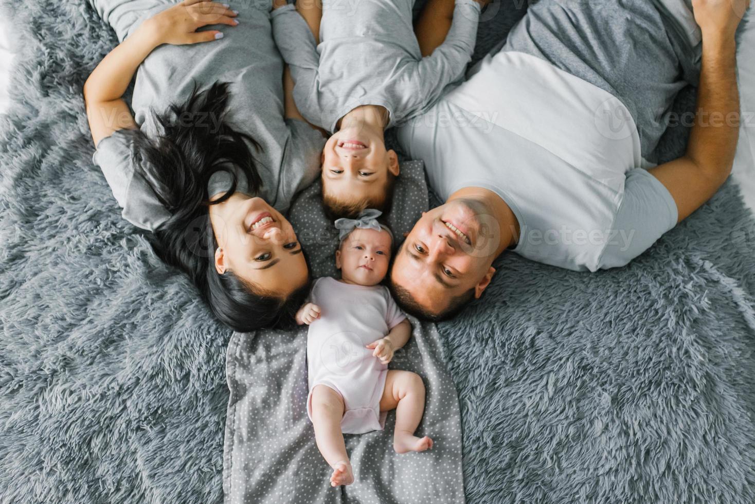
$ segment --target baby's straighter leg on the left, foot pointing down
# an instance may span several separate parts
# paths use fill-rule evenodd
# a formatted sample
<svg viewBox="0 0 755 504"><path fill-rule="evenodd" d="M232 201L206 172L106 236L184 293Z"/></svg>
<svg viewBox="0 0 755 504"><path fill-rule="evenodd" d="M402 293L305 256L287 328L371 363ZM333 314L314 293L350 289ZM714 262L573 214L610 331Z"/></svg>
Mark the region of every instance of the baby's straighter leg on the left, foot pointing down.
<svg viewBox="0 0 755 504"><path fill-rule="evenodd" d="M352 484L354 475L346 454L341 418L344 416L344 399L326 385L312 389L312 424L315 441L325 462L333 468L331 487Z"/></svg>

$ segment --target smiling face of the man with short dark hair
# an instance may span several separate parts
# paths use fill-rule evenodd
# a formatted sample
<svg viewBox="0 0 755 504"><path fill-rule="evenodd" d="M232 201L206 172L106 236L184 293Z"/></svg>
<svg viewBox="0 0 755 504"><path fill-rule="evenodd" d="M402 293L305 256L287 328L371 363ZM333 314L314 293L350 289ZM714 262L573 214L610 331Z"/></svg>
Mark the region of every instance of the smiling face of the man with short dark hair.
<svg viewBox="0 0 755 504"><path fill-rule="evenodd" d="M482 294L495 272L500 240L500 226L484 202L448 201L414 224L396 254L391 281L430 312L442 312L470 289L475 297Z"/></svg>

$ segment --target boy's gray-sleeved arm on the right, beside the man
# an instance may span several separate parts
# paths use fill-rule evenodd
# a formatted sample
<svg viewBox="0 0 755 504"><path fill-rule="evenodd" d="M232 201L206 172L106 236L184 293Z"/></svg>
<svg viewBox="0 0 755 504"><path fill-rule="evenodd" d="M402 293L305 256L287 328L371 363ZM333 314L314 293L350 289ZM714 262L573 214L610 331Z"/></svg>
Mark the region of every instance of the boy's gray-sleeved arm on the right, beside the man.
<svg viewBox="0 0 755 504"><path fill-rule="evenodd" d="M446 85L464 76L474 52L479 12L479 3L474 0L455 0L445 41L418 63L418 82L424 88L420 95L425 103L433 102Z"/></svg>

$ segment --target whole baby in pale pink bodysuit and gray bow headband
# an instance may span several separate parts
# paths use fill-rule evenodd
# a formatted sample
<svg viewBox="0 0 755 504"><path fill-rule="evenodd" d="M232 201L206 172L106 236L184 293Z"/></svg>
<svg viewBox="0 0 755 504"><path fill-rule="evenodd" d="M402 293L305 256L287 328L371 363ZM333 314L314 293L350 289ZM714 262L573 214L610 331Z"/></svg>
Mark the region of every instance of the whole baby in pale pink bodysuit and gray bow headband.
<svg viewBox="0 0 755 504"><path fill-rule="evenodd" d="M425 389L417 373L388 370L393 352L406 344L411 324L380 282L388 271L393 235L368 209L359 220L339 219L341 247L335 255L341 280L315 281L310 299L297 312L309 324L307 414L317 447L333 469L331 486L354 481L344 433L382 430L396 408L393 449L423 451L433 440L414 430L424 413Z"/></svg>

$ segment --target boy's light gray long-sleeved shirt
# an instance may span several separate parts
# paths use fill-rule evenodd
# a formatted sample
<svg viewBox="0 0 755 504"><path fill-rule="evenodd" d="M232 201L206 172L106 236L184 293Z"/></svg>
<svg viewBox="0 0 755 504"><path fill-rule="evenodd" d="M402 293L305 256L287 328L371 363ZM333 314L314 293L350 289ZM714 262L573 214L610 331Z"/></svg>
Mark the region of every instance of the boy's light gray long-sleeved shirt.
<svg viewBox="0 0 755 504"><path fill-rule="evenodd" d="M442 45L422 57L411 24L414 0L322 2L320 44L286 5L273 11L273 36L294 78L301 115L328 131L361 105L384 106L388 127L428 109L461 80L477 35L479 4L456 0Z"/></svg>

